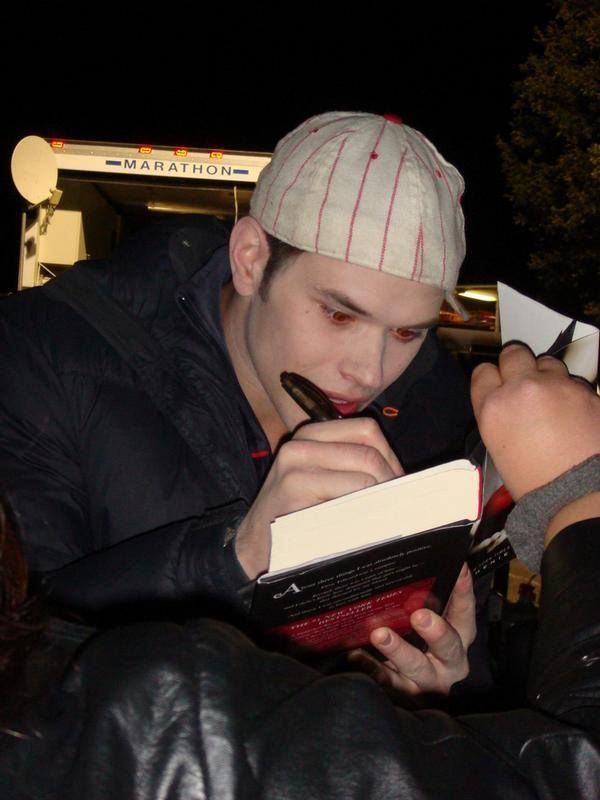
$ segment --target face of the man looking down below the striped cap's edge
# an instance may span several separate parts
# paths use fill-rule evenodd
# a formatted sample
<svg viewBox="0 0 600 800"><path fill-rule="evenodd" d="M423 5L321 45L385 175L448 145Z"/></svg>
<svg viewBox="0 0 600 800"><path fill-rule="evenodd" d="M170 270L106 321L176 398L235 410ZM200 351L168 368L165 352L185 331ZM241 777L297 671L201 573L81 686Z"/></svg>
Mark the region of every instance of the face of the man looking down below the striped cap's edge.
<svg viewBox="0 0 600 800"><path fill-rule="evenodd" d="M249 298L238 377L249 400L270 404L287 430L306 415L282 389L283 371L300 373L342 414L354 414L404 372L441 301L436 287L302 253L273 277L266 299Z"/></svg>

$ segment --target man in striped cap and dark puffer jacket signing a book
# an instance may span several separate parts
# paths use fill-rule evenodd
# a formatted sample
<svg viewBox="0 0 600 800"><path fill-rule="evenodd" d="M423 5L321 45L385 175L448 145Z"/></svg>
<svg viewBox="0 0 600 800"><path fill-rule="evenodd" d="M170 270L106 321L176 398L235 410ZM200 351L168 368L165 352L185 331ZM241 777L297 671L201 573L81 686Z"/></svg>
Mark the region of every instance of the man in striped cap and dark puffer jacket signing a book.
<svg viewBox="0 0 600 800"><path fill-rule="evenodd" d="M4 303L0 474L57 601L135 614L235 605L267 567L276 515L461 452L468 403L428 331L464 256L462 190L398 118L325 114L280 142L228 248L190 226L166 246L155 231L155 269L130 245L50 296ZM193 274L178 282L186 260ZM83 300L56 294L79 276ZM90 287L139 330L115 342L109 320L99 335ZM345 416L369 406L387 438L368 418L298 428L283 370ZM391 637L396 666L419 659L421 688L464 676L468 576L449 613L458 632L417 617L433 673L391 632L375 636Z"/></svg>

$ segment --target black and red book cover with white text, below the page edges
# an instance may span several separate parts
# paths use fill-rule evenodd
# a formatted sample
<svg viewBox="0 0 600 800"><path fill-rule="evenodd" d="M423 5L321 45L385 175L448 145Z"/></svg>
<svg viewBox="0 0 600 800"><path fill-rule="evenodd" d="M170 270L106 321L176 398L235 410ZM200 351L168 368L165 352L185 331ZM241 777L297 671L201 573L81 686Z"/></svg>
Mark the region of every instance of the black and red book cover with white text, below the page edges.
<svg viewBox="0 0 600 800"><path fill-rule="evenodd" d="M264 575L254 592L253 620L275 644L311 653L362 647L381 625L406 635L413 611L444 610L471 526L436 528Z"/></svg>

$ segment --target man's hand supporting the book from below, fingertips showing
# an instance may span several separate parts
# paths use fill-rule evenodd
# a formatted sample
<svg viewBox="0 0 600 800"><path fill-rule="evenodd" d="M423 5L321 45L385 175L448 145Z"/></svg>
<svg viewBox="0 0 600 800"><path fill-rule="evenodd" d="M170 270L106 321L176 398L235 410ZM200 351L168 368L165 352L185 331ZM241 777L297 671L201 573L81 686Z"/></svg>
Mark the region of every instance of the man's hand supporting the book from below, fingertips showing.
<svg viewBox="0 0 600 800"><path fill-rule="evenodd" d="M475 597L466 565L456 582L444 617L420 609L411 625L428 646L426 653L409 644L390 628L371 633L371 644L385 656L381 663L362 650L351 654L352 663L378 683L408 695L448 694L469 672L467 651L475 639Z"/></svg>

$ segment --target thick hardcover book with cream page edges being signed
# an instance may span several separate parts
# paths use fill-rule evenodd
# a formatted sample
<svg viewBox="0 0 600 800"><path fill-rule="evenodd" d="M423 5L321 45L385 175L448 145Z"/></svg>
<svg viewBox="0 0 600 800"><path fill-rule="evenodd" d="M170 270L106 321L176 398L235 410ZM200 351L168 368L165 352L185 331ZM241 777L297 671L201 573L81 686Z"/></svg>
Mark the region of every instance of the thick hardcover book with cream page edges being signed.
<svg viewBox="0 0 600 800"><path fill-rule="evenodd" d="M461 459L279 517L252 613L276 639L350 649L423 606L442 612L481 507L480 470Z"/></svg>

